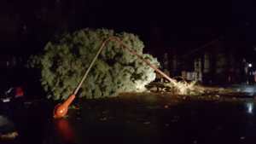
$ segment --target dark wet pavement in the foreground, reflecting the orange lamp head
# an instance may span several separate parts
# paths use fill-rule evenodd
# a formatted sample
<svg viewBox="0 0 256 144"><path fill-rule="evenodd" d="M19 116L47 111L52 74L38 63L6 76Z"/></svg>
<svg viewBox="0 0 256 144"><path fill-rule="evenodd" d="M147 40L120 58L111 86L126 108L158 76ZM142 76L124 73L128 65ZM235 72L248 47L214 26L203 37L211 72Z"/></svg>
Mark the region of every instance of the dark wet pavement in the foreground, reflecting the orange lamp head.
<svg viewBox="0 0 256 144"><path fill-rule="evenodd" d="M176 106L138 101L90 101L53 120L38 102L9 116L19 136L9 143L216 144L255 143L256 103L189 101ZM6 142L6 141L5 141Z"/></svg>

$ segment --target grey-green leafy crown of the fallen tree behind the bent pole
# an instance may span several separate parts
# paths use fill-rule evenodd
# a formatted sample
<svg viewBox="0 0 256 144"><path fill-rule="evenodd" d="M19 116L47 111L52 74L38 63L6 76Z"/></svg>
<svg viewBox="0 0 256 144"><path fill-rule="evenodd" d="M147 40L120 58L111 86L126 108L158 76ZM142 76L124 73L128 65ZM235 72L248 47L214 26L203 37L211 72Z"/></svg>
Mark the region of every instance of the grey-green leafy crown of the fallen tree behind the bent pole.
<svg viewBox="0 0 256 144"><path fill-rule="evenodd" d="M66 99L79 84L84 72L100 48L110 36L119 37L128 47L143 55L143 42L131 33L115 33L112 30L84 29L67 33L49 42L42 55L34 55L29 65L41 69L41 84L49 97ZM159 62L151 55L143 55L152 64ZM101 98L119 92L137 91L155 78L152 68L122 49L119 43L109 42L96 60L82 85L79 96Z"/></svg>

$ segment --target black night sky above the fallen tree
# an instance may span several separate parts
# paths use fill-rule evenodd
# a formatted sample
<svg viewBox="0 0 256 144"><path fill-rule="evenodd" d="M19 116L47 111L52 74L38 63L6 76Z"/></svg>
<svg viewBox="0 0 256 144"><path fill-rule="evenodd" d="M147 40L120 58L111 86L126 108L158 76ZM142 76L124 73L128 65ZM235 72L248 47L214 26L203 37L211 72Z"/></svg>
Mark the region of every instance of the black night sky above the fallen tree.
<svg viewBox="0 0 256 144"><path fill-rule="evenodd" d="M224 35L236 36L252 49L255 7L253 1L241 0L9 0L0 2L0 37L3 49L32 53L57 32L89 26L134 32L146 45L160 37L166 47L196 48Z"/></svg>

